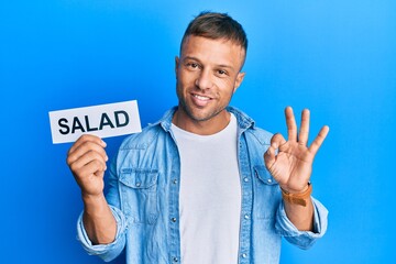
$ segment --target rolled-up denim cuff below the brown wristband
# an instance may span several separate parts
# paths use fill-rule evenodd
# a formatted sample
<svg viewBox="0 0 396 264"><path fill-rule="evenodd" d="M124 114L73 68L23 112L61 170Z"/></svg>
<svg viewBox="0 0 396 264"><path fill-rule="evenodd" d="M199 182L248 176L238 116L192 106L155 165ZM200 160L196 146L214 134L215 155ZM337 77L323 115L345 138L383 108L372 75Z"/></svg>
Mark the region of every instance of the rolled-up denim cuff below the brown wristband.
<svg viewBox="0 0 396 264"><path fill-rule="evenodd" d="M299 231L287 218L282 201L276 213L276 231L287 241L300 249L309 249L318 239L323 237L328 227L328 210L320 201L312 198L314 204L314 232Z"/></svg>

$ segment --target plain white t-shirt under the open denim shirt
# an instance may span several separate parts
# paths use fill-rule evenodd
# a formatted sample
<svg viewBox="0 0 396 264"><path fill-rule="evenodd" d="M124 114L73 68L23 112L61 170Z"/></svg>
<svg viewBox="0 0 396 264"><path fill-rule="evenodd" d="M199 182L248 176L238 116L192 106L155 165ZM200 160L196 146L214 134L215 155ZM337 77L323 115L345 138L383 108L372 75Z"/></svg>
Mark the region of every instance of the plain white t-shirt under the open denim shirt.
<svg viewBox="0 0 396 264"><path fill-rule="evenodd" d="M237 119L212 135L172 125L180 154L183 264L238 263L241 182Z"/></svg>

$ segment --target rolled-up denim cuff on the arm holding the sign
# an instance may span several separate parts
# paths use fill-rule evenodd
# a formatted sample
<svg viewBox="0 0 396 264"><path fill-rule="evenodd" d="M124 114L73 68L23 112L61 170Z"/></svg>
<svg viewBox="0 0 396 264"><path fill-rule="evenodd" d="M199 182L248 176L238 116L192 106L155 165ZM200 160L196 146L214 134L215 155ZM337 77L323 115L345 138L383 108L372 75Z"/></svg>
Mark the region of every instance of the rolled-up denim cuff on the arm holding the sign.
<svg viewBox="0 0 396 264"><path fill-rule="evenodd" d="M114 260L123 250L125 245L125 230L127 221L122 211L113 206L110 206L111 212L117 221L117 234L116 240L110 244L97 244L94 245L89 240L82 222L82 213L77 221L77 239L81 242L82 248L90 255L97 255L105 262Z"/></svg>

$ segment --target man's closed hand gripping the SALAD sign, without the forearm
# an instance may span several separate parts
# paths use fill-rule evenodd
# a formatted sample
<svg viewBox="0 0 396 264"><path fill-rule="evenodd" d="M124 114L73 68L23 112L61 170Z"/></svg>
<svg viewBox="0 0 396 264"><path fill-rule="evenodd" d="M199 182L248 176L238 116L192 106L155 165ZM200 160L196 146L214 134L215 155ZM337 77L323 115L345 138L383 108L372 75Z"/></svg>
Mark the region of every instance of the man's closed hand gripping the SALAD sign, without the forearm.
<svg viewBox="0 0 396 264"><path fill-rule="evenodd" d="M103 194L103 175L108 156L106 143L96 135L81 135L67 153L69 166L82 197L97 197Z"/></svg>

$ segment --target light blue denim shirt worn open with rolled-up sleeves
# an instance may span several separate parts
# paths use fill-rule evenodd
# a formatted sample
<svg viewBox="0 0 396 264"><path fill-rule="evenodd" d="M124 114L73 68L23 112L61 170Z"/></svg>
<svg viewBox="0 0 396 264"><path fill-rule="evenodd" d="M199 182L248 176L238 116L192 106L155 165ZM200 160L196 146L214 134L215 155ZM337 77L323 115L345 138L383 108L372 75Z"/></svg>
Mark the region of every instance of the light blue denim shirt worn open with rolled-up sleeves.
<svg viewBox="0 0 396 264"><path fill-rule="evenodd" d="M77 233L85 250L105 261L122 250L129 264L178 264L180 260L180 160L170 131L176 108L142 133L127 138L110 166L107 200L117 220L116 240L92 245L82 218ZM272 134L235 108L238 155L242 189L239 263L278 263L284 237L301 249L310 248L327 229L327 209L312 198L315 232L298 231L288 220L280 188L264 165ZM224 183L227 185L227 183ZM209 245L208 245L209 246Z"/></svg>

